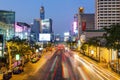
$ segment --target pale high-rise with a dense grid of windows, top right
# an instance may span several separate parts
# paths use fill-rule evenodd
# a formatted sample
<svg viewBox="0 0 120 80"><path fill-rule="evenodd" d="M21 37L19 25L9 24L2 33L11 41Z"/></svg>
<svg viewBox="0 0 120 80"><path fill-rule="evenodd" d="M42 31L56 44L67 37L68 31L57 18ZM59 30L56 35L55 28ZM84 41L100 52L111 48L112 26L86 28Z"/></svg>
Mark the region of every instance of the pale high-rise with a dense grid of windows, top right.
<svg viewBox="0 0 120 80"><path fill-rule="evenodd" d="M120 23L120 0L96 0L95 11L96 29Z"/></svg>

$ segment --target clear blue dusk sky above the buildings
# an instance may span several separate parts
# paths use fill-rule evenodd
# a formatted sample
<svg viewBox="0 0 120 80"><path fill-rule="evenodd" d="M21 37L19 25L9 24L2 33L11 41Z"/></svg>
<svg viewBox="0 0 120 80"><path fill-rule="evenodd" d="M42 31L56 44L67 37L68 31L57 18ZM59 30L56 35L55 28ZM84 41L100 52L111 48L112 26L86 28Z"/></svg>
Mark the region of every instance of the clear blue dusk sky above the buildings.
<svg viewBox="0 0 120 80"><path fill-rule="evenodd" d="M7 4L9 3L9 4ZM74 14L79 7L84 7L85 13L94 13L95 1L88 0L52 0L52 1L4 1L0 0L0 10L12 10L16 12L16 22L33 23L33 19L40 18L40 7L45 8L45 18L53 20L53 31L58 34L69 31L72 27Z"/></svg>

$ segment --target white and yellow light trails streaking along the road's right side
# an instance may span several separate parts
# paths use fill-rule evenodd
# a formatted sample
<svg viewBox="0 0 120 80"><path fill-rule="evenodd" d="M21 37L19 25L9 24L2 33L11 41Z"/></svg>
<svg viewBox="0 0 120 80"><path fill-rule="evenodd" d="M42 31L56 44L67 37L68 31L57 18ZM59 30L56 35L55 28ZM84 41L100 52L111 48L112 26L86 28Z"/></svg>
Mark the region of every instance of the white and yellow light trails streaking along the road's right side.
<svg viewBox="0 0 120 80"><path fill-rule="evenodd" d="M74 59L78 60L80 63L84 65L88 70L94 72L95 75L97 75L101 80L110 80L111 77L115 78L115 80L120 80L118 77L114 76L110 72L106 72L106 70L103 70L104 68L99 68L92 63L88 62L87 60L79 57L78 55L74 54Z"/></svg>

